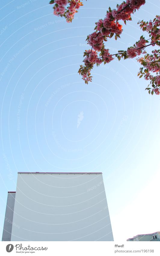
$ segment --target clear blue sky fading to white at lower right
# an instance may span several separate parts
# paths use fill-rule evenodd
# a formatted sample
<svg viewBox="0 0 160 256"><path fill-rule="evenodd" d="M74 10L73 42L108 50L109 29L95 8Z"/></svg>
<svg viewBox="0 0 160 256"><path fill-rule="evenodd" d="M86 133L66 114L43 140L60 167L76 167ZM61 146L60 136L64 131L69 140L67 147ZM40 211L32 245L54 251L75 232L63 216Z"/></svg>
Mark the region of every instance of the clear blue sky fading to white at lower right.
<svg viewBox="0 0 160 256"><path fill-rule="evenodd" d="M1 237L17 172L103 172L114 240L160 231L160 98L145 91L136 59L95 67L84 83L86 37L121 2L83 2L70 24L45 0L0 3ZM106 49L148 39L137 22L158 13L159 1L146 1Z"/></svg>

